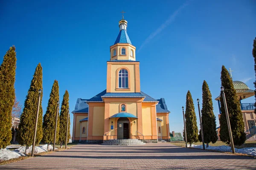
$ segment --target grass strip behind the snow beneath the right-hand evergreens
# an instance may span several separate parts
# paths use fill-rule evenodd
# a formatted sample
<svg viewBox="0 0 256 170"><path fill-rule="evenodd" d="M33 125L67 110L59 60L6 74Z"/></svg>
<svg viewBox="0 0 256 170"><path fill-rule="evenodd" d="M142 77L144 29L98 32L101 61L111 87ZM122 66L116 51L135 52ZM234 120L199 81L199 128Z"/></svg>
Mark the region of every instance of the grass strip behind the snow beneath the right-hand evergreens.
<svg viewBox="0 0 256 170"><path fill-rule="evenodd" d="M186 144L185 142L183 141L177 141L177 142L170 142L170 144L174 144L174 145L177 145L177 146L181 146L181 147L185 147ZM199 145L199 144L202 144L202 142L195 142L195 143L192 143L192 144L195 144L195 145ZM216 143L209 143L210 146L221 146L221 145L227 145L228 144L225 144L224 142L221 142L221 141L217 141ZM245 141L244 144L242 144L241 146L235 146L236 148L240 149L240 148L243 148L243 147L256 147L256 141Z"/></svg>

